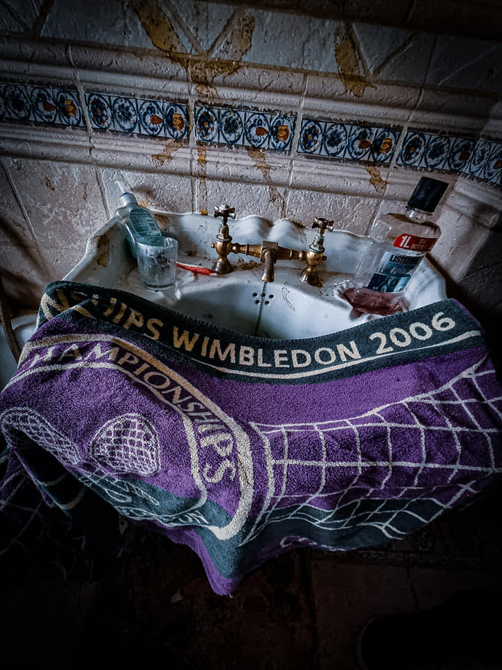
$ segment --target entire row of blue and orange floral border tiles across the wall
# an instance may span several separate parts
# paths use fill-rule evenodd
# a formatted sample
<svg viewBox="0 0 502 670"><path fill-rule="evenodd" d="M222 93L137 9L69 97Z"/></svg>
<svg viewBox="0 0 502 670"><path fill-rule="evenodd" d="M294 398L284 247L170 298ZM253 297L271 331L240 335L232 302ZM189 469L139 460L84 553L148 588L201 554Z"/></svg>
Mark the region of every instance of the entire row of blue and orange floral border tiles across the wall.
<svg viewBox="0 0 502 670"><path fill-rule="evenodd" d="M91 128L126 135L188 140L188 105L179 101L135 98L85 91ZM195 140L206 144L289 153L296 114L248 107L195 104ZM0 82L0 121L85 128L75 89ZM297 154L337 161L390 165L402 128L353 121L302 119ZM409 129L396 167L448 172L502 186L502 141Z"/></svg>

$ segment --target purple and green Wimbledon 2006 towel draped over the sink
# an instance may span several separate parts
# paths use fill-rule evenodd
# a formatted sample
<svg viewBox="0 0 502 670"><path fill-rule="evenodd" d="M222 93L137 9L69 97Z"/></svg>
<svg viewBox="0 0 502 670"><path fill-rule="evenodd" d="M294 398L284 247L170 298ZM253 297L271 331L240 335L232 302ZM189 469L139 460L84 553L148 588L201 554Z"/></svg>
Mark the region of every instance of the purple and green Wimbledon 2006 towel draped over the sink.
<svg viewBox="0 0 502 670"><path fill-rule="evenodd" d="M501 427L480 325L454 300L285 341L54 282L0 396L45 500L188 544L222 594L287 549L381 544L466 502L502 472Z"/></svg>

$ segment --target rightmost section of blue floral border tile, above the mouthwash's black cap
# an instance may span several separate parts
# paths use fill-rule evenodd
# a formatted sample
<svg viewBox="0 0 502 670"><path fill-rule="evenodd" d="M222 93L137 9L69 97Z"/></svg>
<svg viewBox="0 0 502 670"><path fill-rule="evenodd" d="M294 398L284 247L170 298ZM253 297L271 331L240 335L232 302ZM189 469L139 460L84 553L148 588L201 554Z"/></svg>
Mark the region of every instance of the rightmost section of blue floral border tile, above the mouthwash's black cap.
<svg viewBox="0 0 502 670"><path fill-rule="evenodd" d="M500 186L502 142L409 130L396 165L462 174Z"/></svg>

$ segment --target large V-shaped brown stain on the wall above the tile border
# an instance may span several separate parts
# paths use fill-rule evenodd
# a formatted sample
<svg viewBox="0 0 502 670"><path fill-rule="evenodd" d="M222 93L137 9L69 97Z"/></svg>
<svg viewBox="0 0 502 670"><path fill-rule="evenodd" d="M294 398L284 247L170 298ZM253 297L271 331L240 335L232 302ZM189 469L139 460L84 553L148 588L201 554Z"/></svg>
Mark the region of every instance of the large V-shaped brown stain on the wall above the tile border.
<svg viewBox="0 0 502 670"><path fill-rule="evenodd" d="M151 43L175 64L183 67L190 82L196 84L201 96L213 98L218 91L212 86L217 75L231 75L241 68L241 59L250 50L254 32L254 17L244 15L231 29L221 50L225 59L205 54L187 54L176 31L156 0L132 0L139 21Z"/></svg>

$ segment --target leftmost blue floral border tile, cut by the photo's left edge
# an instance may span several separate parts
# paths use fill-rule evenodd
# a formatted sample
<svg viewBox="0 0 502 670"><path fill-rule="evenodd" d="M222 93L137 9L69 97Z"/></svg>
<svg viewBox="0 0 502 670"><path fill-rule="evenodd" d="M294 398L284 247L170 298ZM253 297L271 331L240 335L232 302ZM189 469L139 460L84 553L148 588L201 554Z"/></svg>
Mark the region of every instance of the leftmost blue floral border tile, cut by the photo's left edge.
<svg viewBox="0 0 502 670"><path fill-rule="evenodd" d="M84 126L77 91L0 82L0 121Z"/></svg>

